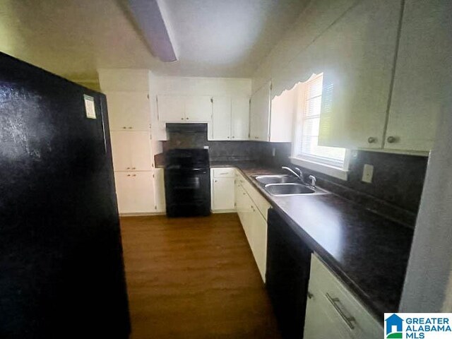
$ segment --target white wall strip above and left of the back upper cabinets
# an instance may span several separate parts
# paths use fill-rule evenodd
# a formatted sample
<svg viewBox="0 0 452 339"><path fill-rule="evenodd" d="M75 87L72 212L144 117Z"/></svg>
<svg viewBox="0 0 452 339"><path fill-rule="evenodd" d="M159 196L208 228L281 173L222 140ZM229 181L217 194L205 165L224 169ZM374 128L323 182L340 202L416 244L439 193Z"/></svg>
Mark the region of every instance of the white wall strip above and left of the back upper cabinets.
<svg viewBox="0 0 452 339"><path fill-rule="evenodd" d="M157 121L157 95L251 96L249 78L201 78L149 75L152 134L155 140L167 140L165 124Z"/></svg>

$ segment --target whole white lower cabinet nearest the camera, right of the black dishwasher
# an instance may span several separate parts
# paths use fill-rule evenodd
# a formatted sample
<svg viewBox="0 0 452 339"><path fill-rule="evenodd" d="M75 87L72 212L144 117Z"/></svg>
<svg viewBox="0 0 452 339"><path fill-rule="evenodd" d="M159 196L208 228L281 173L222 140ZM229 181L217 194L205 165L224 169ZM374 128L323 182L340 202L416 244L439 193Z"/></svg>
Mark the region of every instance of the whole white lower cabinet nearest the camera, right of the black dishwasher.
<svg viewBox="0 0 452 339"><path fill-rule="evenodd" d="M383 338L379 321L316 254L311 259L304 338Z"/></svg>

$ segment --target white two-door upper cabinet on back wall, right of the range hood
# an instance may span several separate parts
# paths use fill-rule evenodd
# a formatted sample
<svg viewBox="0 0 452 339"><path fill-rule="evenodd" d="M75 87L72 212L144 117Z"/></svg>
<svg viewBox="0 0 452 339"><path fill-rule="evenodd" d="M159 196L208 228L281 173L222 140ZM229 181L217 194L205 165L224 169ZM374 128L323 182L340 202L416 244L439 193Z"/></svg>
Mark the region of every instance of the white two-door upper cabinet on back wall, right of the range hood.
<svg viewBox="0 0 452 339"><path fill-rule="evenodd" d="M249 97L213 97L210 140L248 140Z"/></svg>

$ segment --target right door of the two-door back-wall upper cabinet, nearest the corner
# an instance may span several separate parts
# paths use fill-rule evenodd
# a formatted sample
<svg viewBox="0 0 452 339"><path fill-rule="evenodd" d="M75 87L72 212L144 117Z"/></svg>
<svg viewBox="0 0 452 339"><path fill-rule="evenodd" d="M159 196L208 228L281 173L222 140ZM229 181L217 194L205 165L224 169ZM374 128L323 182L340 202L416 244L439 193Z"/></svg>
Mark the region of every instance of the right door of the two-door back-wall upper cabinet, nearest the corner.
<svg viewBox="0 0 452 339"><path fill-rule="evenodd" d="M232 97L231 138L232 140L248 140L248 136L249 136L249 97Z"/></svg>

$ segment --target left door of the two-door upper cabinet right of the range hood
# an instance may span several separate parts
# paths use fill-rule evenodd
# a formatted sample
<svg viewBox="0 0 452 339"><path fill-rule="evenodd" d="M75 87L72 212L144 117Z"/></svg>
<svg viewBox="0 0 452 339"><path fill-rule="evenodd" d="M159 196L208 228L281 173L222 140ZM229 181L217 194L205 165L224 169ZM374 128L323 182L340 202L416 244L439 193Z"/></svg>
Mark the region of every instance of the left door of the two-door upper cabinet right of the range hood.
<svg viewBox="0 0 452 339"><path fill-rule="evenodd" d="M212 140L231 138L231 98L213 97Z"/></svg>

